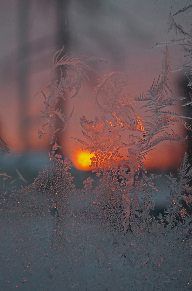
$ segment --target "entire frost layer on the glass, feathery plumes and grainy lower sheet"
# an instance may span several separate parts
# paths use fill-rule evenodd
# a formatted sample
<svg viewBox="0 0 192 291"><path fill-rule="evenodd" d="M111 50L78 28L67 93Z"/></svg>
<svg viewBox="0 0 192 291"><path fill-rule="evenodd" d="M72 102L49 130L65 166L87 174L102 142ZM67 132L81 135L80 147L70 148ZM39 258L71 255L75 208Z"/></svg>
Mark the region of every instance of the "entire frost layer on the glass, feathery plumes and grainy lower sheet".
<svg viewBox="0 0 192 291"><path fill-rule="evenodd" d="M169 19L169 30L185 37L177 42L183 43L189 57L192 32L185 32L174 17L191 7L170 14ZM73 111L65 120L57 108L59 98L65 99L65 93L73 90L72 97L77 98L84 79L89 80L87 72L95 72L91 61L101 59L62 56L63 49L56 52L52 67L60 68L60 79L40 90L46 123L39 129L39 137L49 130L49 166L20 190L12 188L15 180L9 173L0 174L2 183L10 184L0 197L1 291L192 290L192 167L188 154L177 175L166 176L170 194L164 212L157 216L151 210L155 209L154 191L159 191L155 181L161 177L149 175L144 165L146 155L157 144L187 139L170 131L171 125L179 123L191 130L190 117L170 110L185 99L175 96L169 83L169 45L174 42L154 46L164 46L162 72L146 94L127 94L128 81L119 78L119 72L98 81L92 99L100 116L94 121L80 117L82 140L78 141L82 150L94 153L91 168L100 183L92 187L93 179L88 178L81 190L73 184L71 162L59 153L56 136L61 128L55 128L55 116L63 121L64 132ZM192 73L188 77L191 88ZM50 91L48 96L45 88ZM148 121L136 113L136 102L142 102ZM0 141L2 154L9 154L6 142ZM22 173L16 170L16 174L26 182Z"/></svg>

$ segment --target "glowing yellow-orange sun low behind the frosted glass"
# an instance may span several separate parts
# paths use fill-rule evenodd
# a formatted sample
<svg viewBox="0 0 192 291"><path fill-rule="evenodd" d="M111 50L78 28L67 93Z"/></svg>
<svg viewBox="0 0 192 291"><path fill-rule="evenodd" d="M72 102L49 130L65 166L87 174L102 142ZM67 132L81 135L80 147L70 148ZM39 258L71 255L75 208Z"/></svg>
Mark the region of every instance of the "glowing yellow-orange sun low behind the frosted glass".
<svg viewBox="0 0 192 291"><path fill-rule="evenodd" d="M90 164L91 164L91 158L93 158L95 155L94 153L88 152L88 151L79 151L76 154L76 159L74 161L75 167L79 170L83 171L90 171Z"/></svg>

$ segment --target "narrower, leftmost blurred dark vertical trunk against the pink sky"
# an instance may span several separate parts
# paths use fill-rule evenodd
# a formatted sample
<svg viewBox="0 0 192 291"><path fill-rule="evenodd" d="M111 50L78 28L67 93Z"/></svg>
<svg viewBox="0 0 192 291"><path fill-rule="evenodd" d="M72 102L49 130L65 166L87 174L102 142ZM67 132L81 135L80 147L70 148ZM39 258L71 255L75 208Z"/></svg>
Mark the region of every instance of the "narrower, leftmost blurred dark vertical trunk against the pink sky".
<svg viewBox="0 0 192 291"><path fill-rule="evenodd" d="M25 151L30 149L29 141L29 13L30 0L18 1L18 102L19 138Z"/></svg>

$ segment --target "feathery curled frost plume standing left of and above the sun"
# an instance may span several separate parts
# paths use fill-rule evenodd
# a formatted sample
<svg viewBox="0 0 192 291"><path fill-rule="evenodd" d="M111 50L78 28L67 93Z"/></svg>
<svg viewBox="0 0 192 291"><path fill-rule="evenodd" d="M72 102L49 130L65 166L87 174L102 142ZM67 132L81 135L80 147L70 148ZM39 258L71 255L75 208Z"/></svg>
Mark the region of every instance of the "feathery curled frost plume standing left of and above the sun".
<svg viewBox="0 0 192 291"><path fill-rule="evenodd" d="M62 49L59 49L52 58L52 70L56 69L57 67L60 68L60 79L54 80L49 84L44 85L44 87L40 89L37 93L39 94L41 92L44 96L45 109L44 111L41 111L41 113L43 114L42 117L44 117L48 121L48 123L45 123L41 129L38 129L38 135L41 139L45 135L45 128L48 125L48 128L50 130L50 144L54 143L55 135L59 131L59 129L62 129L62 133L66 129L67 124L71 119L74 111L73 108L68 119L66 120L65 114L62 113L62 110L57 108L56 106L59 102L59 98L65 100L65 92L71 92L73 91L73 89L75 89L75 94L72 96L72 98L77 96L79 90L81 89L81 86L83 85L84 78L89 81L86 70L90 70L96 73L93 66L88 65L87 62L98 59L104 60L93 56L76 55L76 57L73 57L68 56L68 54L61 57L60 55L63 49L64 47ZM43 90L45 89L48 89L50 91L48 97L46 97L43 92ZM58 129L55 128L55 121L57 121L57 119L54 118L55 115L59 117L60 120L62 120L62 122L64 123L63 127Z"/></svg>

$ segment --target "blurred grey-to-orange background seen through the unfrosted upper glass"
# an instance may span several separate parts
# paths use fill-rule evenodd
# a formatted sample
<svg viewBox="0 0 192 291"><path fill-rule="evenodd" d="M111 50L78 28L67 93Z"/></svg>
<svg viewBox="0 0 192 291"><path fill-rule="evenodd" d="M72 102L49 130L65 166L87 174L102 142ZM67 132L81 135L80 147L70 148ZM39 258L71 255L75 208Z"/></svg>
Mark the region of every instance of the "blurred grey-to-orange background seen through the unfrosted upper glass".
<svg viewBox="0 0 192 291"><path fill-rule="evenodd" d="M70 99L70 94L66 94L66 101L58 104L66 118L74 106L67 129L56 136L57 143L65 147L61 154L76 166L73 172L77 179L88 178L90 172L82 173L85 168L77 162L81 144L71 137L83 139L79 116L93 121L95 115L100 116L91 97L97 79L120 71L129 81L130 95L146 93L161 73L165 50L151 48L176 38L174 31L167 33L170 7L177 12L187 4L187 0L1 0L0 136L11 153L24 154L7 160L1 156L1 171L6 168L8 174L9 169L18 168L31 183L41 166L48 163L48 131L44 138L38 138L38 129L44 124L40 113L44 110L44 96L35 94L44 84L59 78L59 70L51 72L51 59L64 45L63 54L93 55L107 60L93 61L98 74L88 73L90 82L85 81L78 96ZM182 48L173 45L169 49L174 70L184 63ZM182 71L172 73L170 81L176 96L189 97ZM140 104L138 112L139 107ZM174 111L185 114L181 109ZM179 126L174 131L186 136ZM158 145L148 155L148 170L177 169L187 146L177 142Z"/></svg>

